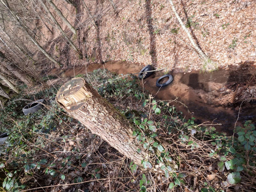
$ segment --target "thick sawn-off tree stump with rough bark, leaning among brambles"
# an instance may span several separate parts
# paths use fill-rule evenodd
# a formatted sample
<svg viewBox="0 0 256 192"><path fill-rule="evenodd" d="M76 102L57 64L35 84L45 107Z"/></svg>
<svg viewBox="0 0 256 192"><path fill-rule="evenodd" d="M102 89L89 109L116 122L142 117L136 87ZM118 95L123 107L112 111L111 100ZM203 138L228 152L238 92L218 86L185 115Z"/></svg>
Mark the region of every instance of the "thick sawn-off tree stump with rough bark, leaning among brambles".
<svg viewBox="0 0 256 192"><path fill-rule="evenodd" d="M73 78L60 87L56 101L68 115L73 116L93 134L129 157L136 164L146 158L138 153L137 141L132 137L133 125L82 78Z"/></svg>

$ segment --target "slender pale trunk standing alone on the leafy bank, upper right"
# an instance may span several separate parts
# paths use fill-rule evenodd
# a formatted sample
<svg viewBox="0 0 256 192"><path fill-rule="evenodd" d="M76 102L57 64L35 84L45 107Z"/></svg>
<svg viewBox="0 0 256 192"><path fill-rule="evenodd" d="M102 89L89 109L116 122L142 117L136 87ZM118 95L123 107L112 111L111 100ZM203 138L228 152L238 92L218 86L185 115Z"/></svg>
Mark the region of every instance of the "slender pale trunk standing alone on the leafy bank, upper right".
<svg viewBox="0 0 256 192"><path fill-rule="evenodd" d="M183 24L182 20L180 19L180 16L178 15L178 13L175 10L175 7L173 5L172 0L169 0L170 4L172 5L172 11L174 12L174 15L176 16L176 18L178 19L180 26L185 30L185 32L188 35L188 39L190 40L191 44L193 45L193 47L195 48L195 50L197 51L197 53L199 54L199 56L204 59L205 62L207 62L209 60L209 57L207 55L204 54L204 52L197 46L197 44L195 43L195 41L193 40L193 37L191 36L191 34L189 33L188 29L185 27L185 25Z"/></svg>

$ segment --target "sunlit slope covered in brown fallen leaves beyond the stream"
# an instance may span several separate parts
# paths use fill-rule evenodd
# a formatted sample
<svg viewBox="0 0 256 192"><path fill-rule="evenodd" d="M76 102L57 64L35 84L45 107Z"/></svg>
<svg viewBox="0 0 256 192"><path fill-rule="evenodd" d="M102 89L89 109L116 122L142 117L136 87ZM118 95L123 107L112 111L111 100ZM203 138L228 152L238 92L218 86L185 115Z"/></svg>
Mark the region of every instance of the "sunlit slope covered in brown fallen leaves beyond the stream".
<svg viewBox="0 0 256 192"><path fill-rule="evenodd" d="M166 67L166 71L189 72L207 67L191 48L168 1L114 1L118 14L114 13L109 1L85 2L98 29L93 27L82 4L78 3L75 8L65 1L55 2L78 29L78 36L73 40L84 55L82 60L57 30L53 29L52 35L43 23L39 24L45 34L41 44L64 68L108 60L152 64L156 68ZM255 0L179 0L173 3L196 43L214 62L214 67L255 63ZM56 18L62 23L58 16ZM68 32L66 26L62 27ZM71 38L72 33L68 34Z"/></svg>

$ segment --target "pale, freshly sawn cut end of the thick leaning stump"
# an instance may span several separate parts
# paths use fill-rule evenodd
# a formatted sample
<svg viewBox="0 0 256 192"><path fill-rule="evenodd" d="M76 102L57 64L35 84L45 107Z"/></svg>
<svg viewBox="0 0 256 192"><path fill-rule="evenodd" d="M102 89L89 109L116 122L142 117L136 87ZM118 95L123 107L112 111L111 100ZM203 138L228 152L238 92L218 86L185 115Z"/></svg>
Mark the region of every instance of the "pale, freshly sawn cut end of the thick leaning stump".
<svg viewBox="0 0 256 192"><path fill-rule="evenodd" d="M84 84L85 81L82 78L71 79L60 87L56 101L69 111L80 108L88 98L92 97L92 93L86 89Z"/></svg>

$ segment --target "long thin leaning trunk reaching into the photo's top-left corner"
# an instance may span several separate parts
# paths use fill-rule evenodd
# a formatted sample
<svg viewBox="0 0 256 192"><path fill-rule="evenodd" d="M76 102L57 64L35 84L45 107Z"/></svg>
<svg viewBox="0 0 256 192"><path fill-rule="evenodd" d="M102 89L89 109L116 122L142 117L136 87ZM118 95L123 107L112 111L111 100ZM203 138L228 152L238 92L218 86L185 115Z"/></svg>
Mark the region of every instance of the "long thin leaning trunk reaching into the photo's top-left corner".
<svg viewBox="0 0 256 192"><path fill-rule="evenodd" d="M12 16L15 18L15 20L18 21L18 23L20 24L20 26L26 31L26 33L29 35L28 33L28 29L27 27L23 24L23 22L20 20L20 18L14 14L14 12L12 12L12 10L4 3L3 0L0 0L0 2L8 9L8 11L12 14ZM44 53L44 55L50 59L53 63L58 64L61 66L60 62L55 60L51 55L49 55L44 48L36 41L36 39L32 36L29 35L29 37L31 38L32 42L38 47L38 49Z"/></svg>

